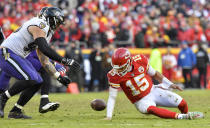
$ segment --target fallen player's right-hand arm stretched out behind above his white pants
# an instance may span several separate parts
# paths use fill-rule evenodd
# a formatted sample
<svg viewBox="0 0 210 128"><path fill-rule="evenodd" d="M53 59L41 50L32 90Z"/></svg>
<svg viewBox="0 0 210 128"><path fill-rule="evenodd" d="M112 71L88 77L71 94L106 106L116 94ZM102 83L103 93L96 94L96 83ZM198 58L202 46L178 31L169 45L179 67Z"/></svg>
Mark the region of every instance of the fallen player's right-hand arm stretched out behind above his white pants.
<svg viewBox="0 0 210 128"><path fill-rule="evenodd" d="M163 83L163 84L161 84L161 88L163 88L163 89L173 88L173 89L178 89L178 90L182 91L182 88L180 88L176 84L172 83L170 80L168 80L166 77L164 77L161 73L154 70L152 68L152 66L150 66L150 65L147 70L147 73L151 77L153 77L155 80L157 80L158 82Z"/></svg>

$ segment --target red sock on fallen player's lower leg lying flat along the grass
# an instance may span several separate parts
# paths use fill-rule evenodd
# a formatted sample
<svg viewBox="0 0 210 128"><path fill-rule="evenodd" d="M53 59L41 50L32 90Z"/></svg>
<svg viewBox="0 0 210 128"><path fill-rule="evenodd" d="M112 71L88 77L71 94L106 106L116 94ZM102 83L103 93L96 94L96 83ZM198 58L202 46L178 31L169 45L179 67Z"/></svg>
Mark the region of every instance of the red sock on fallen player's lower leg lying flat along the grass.
<svg viewBox="0 0 210 128"><path fill-rule="evenodd" d="M158 108L155 106L150 106L147 109L147 112L156 116L159 116L161 118L169 118L169 119L176 119L176 112L169 111L164 108Z"/></svg>

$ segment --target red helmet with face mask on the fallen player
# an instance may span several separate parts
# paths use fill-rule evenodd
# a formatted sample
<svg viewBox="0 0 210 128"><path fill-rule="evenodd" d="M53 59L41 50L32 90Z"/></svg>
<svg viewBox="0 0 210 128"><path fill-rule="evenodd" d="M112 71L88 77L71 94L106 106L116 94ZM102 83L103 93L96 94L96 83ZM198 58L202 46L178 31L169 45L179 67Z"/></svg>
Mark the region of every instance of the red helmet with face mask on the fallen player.
<svg viewBox="0 0 210 128"><path fill-rule="evenodd" d="M118 48L112 54L112 67L118 75L125 75L131 70L131 53L127 48Z"/></svg>

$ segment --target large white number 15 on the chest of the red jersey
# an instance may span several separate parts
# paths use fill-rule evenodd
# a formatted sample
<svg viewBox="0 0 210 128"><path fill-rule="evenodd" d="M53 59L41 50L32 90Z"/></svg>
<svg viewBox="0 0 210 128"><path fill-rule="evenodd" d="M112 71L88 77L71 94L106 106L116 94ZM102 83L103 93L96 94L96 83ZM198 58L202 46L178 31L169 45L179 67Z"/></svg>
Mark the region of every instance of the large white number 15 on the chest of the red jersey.
<svg viewBox="0 0 210 128"><path fill-rule="evenodd" d="M147 90L147 88L149 87L149 82L147 81L146 78L143 78L145 75L144 73L142 73L141 75L138 75L136 77L134 77L134 81L136 83L136 85L139 87L139 88L136 88L131 80L128 80L126 82L126 86L129 87L132 91L132 95L133 96L136 96L136 95L139 95L141 92ZM143 79L142 79L143 78Z"/></svg>

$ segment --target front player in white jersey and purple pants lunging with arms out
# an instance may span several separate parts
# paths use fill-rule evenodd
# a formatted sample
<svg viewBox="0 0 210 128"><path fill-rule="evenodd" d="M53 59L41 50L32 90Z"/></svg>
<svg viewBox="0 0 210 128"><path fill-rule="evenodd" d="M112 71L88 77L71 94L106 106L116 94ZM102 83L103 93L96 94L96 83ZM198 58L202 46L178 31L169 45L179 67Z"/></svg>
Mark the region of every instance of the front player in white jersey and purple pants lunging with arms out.
<svg viewBox="0 0 210 128"><path fill-rule="evenodd" d="M43 84L43 79L25 57L36 50L42 67L58 81L70 83L69 78L56 71L49 58L79 70L80 65L73 59L58 55L48 46L54 31L64 23L63 12L49 7L43 16L26 21L19 29L7 37L0 46L0 68L8 75L19 79L11 88L0 94L0 117L4 117L4 107L8 99L18 93L20 98L9 112L9 118L31 118L23 114L23 106L33 97Z"/></svg>

